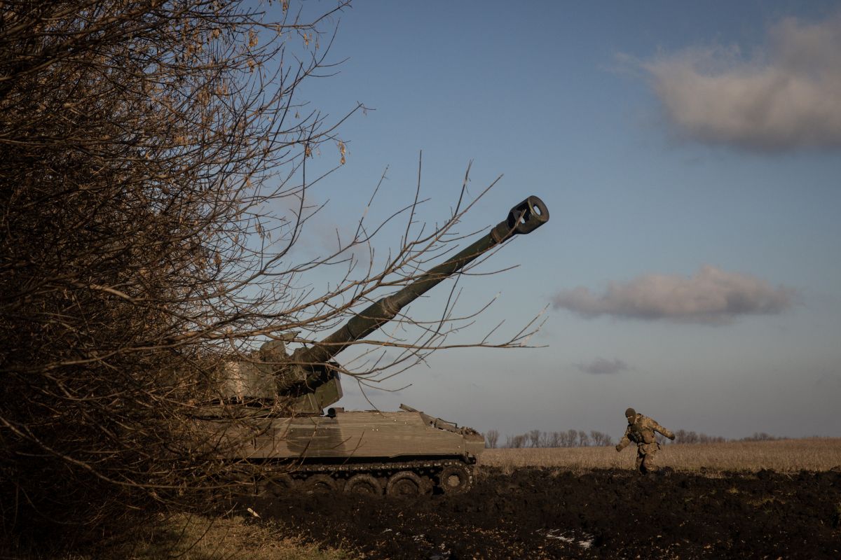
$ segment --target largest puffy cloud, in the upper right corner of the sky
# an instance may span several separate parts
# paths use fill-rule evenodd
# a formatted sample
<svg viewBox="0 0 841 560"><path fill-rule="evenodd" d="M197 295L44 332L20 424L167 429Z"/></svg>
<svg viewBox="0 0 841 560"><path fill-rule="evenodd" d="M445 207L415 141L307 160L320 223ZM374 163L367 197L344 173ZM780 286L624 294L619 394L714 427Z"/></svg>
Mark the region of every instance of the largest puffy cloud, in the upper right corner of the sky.
<svg viewBox="0 0 841 560"><path fill-rule="evenodd" d="M841 13L786 18L746 59L736 47L643 64L669 121L691 139L747 149L841 148Z"/></svg>

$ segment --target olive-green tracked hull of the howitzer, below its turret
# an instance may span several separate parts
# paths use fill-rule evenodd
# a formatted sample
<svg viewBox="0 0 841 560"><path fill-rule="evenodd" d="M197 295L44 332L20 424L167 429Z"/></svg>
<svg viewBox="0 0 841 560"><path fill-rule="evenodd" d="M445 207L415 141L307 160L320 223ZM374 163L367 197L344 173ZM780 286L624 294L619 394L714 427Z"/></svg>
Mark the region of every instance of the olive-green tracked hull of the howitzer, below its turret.
<svg viewBox="0 0 841 560"><path fill-rule="evenodd" d="M243 466L263 497L320 490L370 494L459 493L473 484L484 437L402 406L279 417L252 411L239 421L201 420L208 442ZM252 468L251 468L252 467ZM360 484L362 481L360 490Z"/></svg>

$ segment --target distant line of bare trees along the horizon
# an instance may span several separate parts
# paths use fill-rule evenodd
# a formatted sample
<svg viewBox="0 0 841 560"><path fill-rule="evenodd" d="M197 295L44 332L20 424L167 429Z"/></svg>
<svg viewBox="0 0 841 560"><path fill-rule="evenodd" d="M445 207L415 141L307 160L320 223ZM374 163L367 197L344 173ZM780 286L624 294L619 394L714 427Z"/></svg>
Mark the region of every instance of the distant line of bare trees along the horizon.
<svg viewBox="0 0 841 560"><path fill-rule="evenodd" d="M754 432L753 436L731 440L722 436L708 436L703 432L678 430L674 432L673 443L770 442L778 439L785 439L785 437L775 437L765 432ZM595 430L590 432L584 432L584 430L567 430L565 432L531 430L517 436L505 436L505 442L500 442L500 432L489 430L484 435L484 441L485 446L491 449L496 447L519 449L522 447L607 447L614 445L613 438L609 434ZM668 438L660 434L657 434L657 441L660 445L670 442Z"/></svg>

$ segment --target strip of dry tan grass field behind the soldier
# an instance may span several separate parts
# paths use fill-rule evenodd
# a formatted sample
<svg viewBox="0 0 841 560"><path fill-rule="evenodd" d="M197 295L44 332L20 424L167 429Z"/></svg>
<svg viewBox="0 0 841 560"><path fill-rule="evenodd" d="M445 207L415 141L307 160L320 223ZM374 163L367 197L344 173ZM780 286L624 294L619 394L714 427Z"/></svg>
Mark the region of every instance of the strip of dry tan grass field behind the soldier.
<svg viewBox="0 0 841 560"><path fill-rule="evenodd" d="M614 447L529 447L486 449L481 465L513 471L520 467L557 467L570 470L633 468L634 446L616 453ZM685 472L822 471L841 467L841 437L784 439L770 442L668 444L657 455L661 467Z"/></svg>

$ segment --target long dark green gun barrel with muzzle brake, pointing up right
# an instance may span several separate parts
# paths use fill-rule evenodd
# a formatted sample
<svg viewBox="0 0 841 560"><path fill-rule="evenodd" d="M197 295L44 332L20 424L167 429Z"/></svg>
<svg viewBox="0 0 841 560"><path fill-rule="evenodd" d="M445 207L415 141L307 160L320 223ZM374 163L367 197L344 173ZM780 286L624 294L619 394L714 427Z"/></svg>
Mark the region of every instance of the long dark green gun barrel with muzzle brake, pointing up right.
<svg viewBox="0 0 841 560"><path fill-rule="evenodd" d="M505 243L515 235L532 233L548 221L549 210L543 204L543 201L537 196L529 196L526 200L511 208L508 217L491 228L483 238L417 277L409 285L391 296L383 297L371 304L320 343L296 351L294 362L297 364L325 363L354 341L365 338L371 332L391 321L400 309L422 296L432 286L462 270L465 265L477 259L489 249L500 243Z"/></svg>

